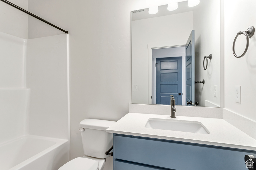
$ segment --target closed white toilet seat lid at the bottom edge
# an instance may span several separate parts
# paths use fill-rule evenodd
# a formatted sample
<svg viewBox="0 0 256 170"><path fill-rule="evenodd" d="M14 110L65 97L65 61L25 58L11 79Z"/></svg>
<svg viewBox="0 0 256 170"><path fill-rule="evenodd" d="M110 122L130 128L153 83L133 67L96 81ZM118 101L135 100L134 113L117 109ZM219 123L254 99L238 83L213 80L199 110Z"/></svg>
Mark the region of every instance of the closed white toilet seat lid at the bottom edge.
<svg viewBox="0 0 256 170"><path fill-rule="evenodd" d="M88 158L75 158L58 170L97 170L99 162Z"/></svg>

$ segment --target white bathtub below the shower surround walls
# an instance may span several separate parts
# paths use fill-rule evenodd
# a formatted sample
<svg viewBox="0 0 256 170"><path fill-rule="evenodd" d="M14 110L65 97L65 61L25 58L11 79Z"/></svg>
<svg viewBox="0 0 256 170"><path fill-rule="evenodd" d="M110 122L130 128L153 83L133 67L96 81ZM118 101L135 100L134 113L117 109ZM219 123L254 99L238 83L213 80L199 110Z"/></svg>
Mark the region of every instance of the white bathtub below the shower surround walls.
<svg viewBox="0 0 256 170"><path fill-rule="evenodd" d="M68 161L68 140L26 135L0 145L1 170L56 170Z"/></svg>

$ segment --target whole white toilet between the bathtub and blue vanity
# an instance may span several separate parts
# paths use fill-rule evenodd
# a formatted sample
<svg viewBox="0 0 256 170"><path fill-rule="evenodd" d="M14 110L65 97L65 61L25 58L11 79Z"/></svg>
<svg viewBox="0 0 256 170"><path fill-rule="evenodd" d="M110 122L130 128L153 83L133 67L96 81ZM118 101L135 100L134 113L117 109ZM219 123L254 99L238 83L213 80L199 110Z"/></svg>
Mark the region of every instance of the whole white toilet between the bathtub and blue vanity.
<svg viewBox="0 0 256 170"><path fill-rule="evenodd" d="M79 124L82 135L83 152L85 156L75 158L58 170L102 170L105 165L106 155L113 145L113 134L106 129L113 125L114 121L84 119Z"/></svg>

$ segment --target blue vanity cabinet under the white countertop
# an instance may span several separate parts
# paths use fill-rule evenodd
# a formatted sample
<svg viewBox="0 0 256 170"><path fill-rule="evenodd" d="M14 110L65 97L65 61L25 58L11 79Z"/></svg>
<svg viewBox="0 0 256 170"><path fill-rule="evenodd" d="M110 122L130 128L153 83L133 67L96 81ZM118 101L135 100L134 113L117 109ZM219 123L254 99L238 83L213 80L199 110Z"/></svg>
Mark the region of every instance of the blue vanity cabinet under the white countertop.
<svg viewBox="0 0 256 170"><path fill-rule="evenodd" d="M113 134L114 170L247 170L256 151Z"/></svg>

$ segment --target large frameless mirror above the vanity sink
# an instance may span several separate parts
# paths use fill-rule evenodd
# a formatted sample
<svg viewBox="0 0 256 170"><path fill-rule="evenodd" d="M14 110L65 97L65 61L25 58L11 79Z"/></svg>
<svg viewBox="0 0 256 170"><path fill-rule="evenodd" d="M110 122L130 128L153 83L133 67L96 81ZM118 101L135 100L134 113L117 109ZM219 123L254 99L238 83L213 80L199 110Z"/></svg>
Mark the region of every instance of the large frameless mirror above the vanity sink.
<svg viewBox="0 0 256 170"><path fill-rule="evenodd" d="M219 107L220 1L177 5L131 12L132 103Z"/></svg>

